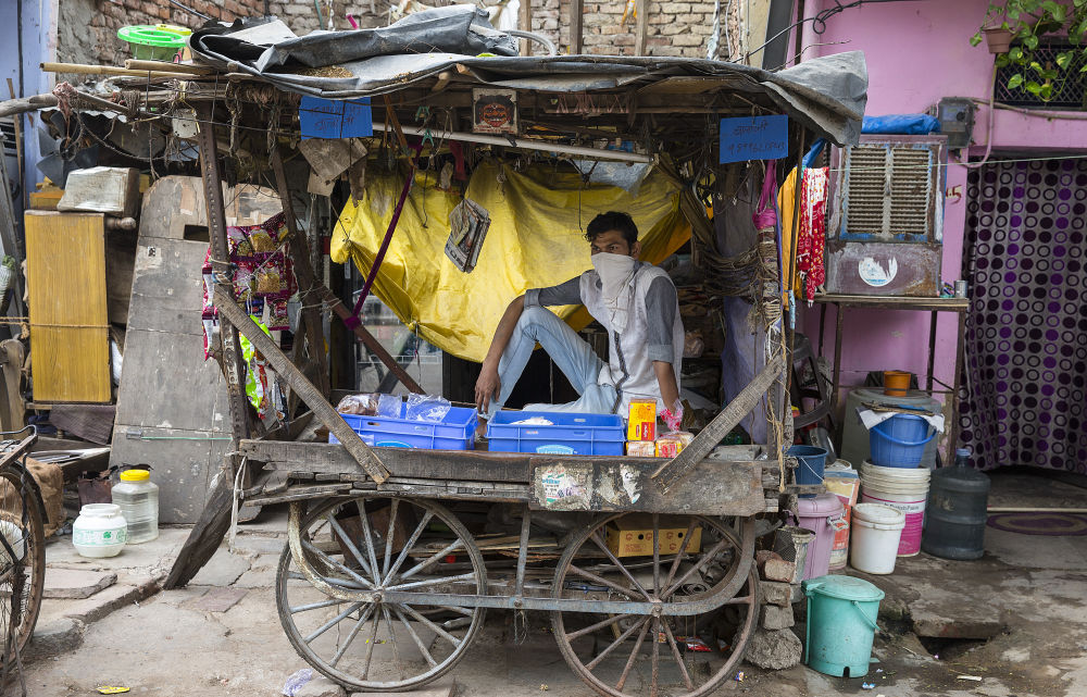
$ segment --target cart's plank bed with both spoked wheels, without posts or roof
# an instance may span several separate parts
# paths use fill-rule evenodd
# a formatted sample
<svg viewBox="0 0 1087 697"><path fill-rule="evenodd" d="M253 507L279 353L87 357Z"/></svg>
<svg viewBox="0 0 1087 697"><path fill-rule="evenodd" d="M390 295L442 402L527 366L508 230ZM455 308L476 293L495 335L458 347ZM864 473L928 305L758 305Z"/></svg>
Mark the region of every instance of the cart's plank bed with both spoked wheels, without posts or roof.
<svg viewBox="0 0 1087 697"><path fill-rule="evenodd" d="M758 446L716 448L667 494L652 480L666 460L377 450L380 485L341 446L240 446L286 475L245 500L290 502L279 618L328 677L424 685L487 609L548 612L566 662L605 695L703 695L732 675L758 619L754 516L778 508L779 464ZM520 535L473 535L459 502L508 505ZM540 518L569 532L530 534Z"/></svg>

